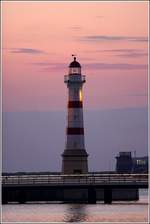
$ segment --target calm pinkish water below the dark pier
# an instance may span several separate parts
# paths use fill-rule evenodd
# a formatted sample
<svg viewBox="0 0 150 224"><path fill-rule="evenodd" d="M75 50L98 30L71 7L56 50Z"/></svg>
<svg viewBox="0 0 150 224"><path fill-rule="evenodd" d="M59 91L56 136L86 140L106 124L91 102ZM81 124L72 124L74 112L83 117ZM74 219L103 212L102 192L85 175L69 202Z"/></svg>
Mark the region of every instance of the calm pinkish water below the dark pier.
<svg viewBox="0 0 150 224"><path fill-rule="evenodd" d="M148 223L148 194L140 192L138 202L89 204L8 204L2 207L3 222L118 222Z"/></svg>

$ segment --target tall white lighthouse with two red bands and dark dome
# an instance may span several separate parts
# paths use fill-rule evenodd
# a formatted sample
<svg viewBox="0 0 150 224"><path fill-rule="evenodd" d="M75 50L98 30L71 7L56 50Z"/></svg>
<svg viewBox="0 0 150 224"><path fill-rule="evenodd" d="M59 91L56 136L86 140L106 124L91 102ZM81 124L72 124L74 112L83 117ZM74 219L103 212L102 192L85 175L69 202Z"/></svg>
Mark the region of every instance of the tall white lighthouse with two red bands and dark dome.
<svg viewBox="0 0 150 224"><path fill-rule="evenodd" d="M65 75L64 82L68 87L68 114L65 150L62 154L62 173L85 174L88 173L82 97L85 76L81 74L81 65L76 61L76 57L69 65L69 74Z"/></svg>

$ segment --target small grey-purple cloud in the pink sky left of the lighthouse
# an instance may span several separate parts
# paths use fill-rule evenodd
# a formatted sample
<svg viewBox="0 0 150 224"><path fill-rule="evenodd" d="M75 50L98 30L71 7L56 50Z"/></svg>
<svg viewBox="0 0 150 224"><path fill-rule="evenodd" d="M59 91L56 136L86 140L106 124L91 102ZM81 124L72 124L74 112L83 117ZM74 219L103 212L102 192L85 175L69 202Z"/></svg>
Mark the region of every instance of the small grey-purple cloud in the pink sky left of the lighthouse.
<svg viewBox="0 0 150 224"><path fill-rule="evenodd" d="M10 52L16 54L46 54L45 51L34 48L13 48Z"/></svg>

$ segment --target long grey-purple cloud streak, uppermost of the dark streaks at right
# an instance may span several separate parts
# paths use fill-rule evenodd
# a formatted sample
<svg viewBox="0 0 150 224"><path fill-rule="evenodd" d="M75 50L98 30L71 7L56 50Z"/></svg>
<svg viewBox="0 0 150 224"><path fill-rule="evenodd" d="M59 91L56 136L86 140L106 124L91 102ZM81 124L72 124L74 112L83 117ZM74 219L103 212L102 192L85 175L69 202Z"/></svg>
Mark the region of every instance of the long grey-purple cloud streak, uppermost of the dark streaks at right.
<svg viewBox="0 0 150 224"><path fill-rule="evenodd" d="M137 42L147 42L147 37L129 37L129 36L105 36L105 35L91 35L80 37L79 41L89 41L89 42L101 42L101 41L137 41Z"/></svg>

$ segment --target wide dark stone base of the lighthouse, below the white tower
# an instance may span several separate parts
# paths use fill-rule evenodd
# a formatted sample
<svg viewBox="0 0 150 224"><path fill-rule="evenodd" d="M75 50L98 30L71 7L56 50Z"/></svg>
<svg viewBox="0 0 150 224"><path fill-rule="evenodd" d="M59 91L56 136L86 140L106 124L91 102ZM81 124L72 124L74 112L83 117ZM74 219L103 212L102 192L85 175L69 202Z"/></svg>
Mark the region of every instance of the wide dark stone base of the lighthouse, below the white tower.
<svg viewBox="0 0 150 224"><path fill-rule="evenodd" d="M66 149L62 154L63 174L86 174L88 173L88 154L85 149Z"/></svg>

